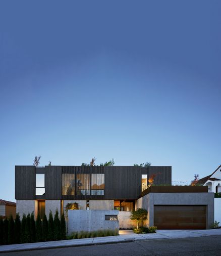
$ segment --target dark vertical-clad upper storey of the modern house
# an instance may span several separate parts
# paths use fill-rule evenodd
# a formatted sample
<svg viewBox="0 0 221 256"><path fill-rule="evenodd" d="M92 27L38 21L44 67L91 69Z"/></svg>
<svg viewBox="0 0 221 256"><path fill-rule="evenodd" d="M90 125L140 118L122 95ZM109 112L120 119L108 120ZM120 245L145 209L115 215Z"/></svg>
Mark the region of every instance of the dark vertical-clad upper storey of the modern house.
<svg viewBox="0 0 221 256"><path fill-rule="evenodd" d="M38 188L38 174L44 175L44 190ZM147 185L152 175L154 185L172 182L171 166L15 166L15 199L134 200L141 195L142 175Z"/></svg>

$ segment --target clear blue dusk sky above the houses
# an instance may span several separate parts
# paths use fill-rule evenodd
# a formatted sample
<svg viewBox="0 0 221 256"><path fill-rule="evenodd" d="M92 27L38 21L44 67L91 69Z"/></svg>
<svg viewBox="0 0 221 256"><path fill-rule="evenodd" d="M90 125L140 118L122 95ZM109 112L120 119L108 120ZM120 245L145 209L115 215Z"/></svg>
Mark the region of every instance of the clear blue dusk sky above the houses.
<svg viewBox="0 0 221 256"><path fill-rule="evenodd" d="M0 2L0 198L15 165L221 163L221 1Z"/></svg>

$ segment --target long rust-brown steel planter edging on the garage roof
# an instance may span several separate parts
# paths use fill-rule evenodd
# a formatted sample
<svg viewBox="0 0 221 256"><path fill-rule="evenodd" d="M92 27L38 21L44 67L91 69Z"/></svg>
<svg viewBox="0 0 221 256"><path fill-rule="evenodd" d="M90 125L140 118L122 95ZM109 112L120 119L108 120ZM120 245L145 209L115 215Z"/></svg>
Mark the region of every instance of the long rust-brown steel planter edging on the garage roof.
<svg viewBox="0 0 221 256"><path fill-rule="evenodd" d="M208 186L150 186L141 192L141 197L149 193L207 193Z"/></svg>

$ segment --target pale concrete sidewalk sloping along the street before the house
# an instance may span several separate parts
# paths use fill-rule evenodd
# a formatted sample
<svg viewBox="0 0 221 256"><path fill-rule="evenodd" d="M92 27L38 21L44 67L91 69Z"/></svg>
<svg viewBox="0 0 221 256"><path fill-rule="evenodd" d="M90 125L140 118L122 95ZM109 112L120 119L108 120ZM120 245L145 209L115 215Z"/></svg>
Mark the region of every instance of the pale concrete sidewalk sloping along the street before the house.
<svg viewBox="0 0 221 256"><path fill-rule="evenodd" d="M221 229L207 230L157 230L155 234L135 234L132 230L120 230L118 236L83 238L62 241L49 241L39 243L23 243L0 246L0 253L36 249L61 248L71 246L107 244L107 243L122 243L131 241L147 241L152 239L173 239L185 237L200 237L221 235Z"/></svg>

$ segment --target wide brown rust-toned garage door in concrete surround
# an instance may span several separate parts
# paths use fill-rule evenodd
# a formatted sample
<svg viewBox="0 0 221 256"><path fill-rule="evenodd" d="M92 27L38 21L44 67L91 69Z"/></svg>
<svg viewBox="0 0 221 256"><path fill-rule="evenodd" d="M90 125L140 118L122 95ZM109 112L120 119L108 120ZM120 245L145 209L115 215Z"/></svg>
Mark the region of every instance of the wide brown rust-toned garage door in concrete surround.
<svg viewBox="0 0 221 256"><path fill-rule="evenodd" d="M205 205L154 205L157 229L205 229Z"/></svg>

